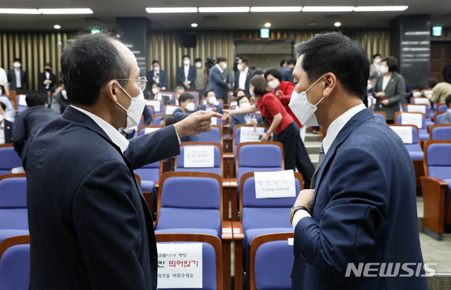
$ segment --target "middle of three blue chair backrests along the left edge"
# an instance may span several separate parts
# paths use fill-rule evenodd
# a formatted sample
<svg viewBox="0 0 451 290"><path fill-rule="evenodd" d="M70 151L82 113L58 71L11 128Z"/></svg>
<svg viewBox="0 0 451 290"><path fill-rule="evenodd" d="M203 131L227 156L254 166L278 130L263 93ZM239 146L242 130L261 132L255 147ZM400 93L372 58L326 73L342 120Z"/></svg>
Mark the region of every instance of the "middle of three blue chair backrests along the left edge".
<svg viewBox="0 0 451 290"><path fill-rule="evenodd" d="M27 177L25 173L0 175L1 208L27 208Z"/></svg>

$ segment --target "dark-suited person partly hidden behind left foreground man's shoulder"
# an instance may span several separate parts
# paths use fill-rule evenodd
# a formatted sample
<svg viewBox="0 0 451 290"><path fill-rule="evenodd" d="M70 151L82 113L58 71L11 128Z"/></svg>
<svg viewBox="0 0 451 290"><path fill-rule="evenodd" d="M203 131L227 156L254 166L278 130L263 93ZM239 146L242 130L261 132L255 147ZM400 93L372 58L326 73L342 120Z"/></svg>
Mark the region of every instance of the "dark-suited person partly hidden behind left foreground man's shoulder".
<svg viewBox="0 0 451 290"><path fill-rule="evenodd" d="M51 108L47 108L47 96L45 94L28 94L25 101L27 102L27 109L16 115L13 127L14 150L22 158L24 169L27 164L30 144L35 138L37 130L58 115Z"/></svg>

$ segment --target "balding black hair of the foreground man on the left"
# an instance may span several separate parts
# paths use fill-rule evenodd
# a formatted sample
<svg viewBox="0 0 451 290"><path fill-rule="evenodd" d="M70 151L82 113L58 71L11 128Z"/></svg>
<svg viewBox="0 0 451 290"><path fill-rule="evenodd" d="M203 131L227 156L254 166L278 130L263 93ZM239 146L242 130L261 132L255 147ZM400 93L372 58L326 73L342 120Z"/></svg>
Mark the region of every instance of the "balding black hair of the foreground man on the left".
<svg viewBox="0 0 451 290"><path fill-rule="evenodd" d="M114 42L106 32L89 33L78 35L66 46L61 54L61 75L69 103L92 106L107 82L130 77L130 65ZM128 84L118 83L123 89Z"/></svg>

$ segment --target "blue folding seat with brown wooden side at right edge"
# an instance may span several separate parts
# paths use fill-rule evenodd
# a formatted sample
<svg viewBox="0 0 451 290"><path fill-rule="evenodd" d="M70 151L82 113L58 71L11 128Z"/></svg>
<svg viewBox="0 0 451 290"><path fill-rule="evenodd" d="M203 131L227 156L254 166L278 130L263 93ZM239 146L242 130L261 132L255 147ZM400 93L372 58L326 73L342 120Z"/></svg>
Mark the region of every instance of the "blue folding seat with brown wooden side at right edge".
<svg viewBox="0 0 451 290"><path fill-rule="evenodd" d="M451 224L451 141L424 142L424 233L441 241L445 222Z"/></svg>

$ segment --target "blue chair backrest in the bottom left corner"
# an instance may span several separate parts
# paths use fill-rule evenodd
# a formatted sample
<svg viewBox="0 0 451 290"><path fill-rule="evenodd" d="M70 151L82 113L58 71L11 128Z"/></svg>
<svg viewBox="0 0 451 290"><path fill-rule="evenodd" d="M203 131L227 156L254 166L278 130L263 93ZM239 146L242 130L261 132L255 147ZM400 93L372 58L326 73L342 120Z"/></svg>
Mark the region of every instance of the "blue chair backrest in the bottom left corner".
<svg viewBox="0 0 451 290"><path fill-rule="evenodd" d="M0 289L27 290L29 279L30 235L4 239L0 244Z"/></svg>

